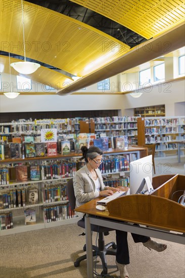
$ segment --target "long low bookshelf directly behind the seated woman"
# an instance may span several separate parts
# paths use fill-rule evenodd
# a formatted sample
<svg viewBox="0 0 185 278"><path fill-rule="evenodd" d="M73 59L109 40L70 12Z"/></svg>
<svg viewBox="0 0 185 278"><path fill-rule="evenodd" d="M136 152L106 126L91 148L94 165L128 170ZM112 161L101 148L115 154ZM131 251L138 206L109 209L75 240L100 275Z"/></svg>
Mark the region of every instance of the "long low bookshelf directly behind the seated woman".
<svg viewBox="0 0 185 278"><path fill-rule="evenodd" d="M110 149L109 151L105 152L103 155L105 165L104 167L103 164L101 165L104 168L102 168L101 170L105 179L106 186L117 186L118 184L126 186L126 184L123 184L123 182L125 181L125 174L129 172L129 162L146 155L147 149L141 147L129 147L126 151ZM5 179L3 178L1 180L2 184L0 185L0 235L4 236L16 234L23 231L48 228L52 226L76 222L78 219L77 217L75 217L74 214L71 214L72 212L70 211L69 203L67 200L65 184L67 183L67 180L69 178L74 176L74 173L77 170L79 157L81 157L81 154L69 154L66 156L58 154L57 156L55 156L55 158L39 157L29 159L20 158L1 160L0 169L8 169L8 174L10 176L9 178L7 178L7 176ZM122 163L123 158L125 158L127 161L127 164L125 165L124 163ZM112 167L111 165L113 164L111 163L114 162L117 164L114 164L116 166ZM42 169L42 166L52 166L55 163L58 163L58 166L63 164L67 165L67 163L76 164L75 166L73 165L73 171L68 170L67 172L66 169L69 168L64 168L64 172L62 172L61 175L59 174L57 177L55 176L55 178L52 178L52 175L49 175L48 178L45 179L45 175L42 175L40 173L40 180L30 180L30 174L28 174L27 181L11 181L10 169L14 169L17 165L19 165L20 167L22 167L22 165L27 165L29 168L32 163L35 163L35 165L39 165L40 169ZM106 163L110 167L106 167ZM63 175L65 177L63 177ZM29 200L29 191L32 188L36 189L36 192L38 194L38 201L35 203L30 203ZM13 203L11 201L11 197L9 198L8 196L9 191L16 192ZM25 193L25 198L23 198L23 193ZM47 199L47 197L49 199ZM24 224L25 209L35 211L35 224ZM60 211L62 212L60 213ZM9 228L10 222L13 223L13 228Z"/></svg>

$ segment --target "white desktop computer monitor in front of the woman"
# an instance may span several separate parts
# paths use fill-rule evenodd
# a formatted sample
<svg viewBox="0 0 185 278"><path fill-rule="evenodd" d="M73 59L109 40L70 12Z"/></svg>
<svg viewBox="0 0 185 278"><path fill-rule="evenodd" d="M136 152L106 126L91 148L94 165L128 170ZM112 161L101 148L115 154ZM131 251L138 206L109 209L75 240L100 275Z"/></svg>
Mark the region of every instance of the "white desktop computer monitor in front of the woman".
<svg viewBox="0 0 185 278"><path fill-rule="evenodd" d="M139 191L138 191L139 190ZM152 155L130 162L130 192L152 191Z"/></svg>

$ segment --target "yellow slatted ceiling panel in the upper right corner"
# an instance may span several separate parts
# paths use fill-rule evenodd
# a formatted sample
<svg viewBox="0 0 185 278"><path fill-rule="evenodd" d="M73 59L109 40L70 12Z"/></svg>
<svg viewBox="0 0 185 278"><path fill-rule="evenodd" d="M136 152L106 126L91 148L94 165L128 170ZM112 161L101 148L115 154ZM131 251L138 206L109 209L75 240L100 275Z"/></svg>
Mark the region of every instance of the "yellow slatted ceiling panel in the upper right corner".
<svg viewBox="0 0 185 278"><path fill-rule="evenodd" d="M184 21L184 0L71 0L150 39Z"/></svg>

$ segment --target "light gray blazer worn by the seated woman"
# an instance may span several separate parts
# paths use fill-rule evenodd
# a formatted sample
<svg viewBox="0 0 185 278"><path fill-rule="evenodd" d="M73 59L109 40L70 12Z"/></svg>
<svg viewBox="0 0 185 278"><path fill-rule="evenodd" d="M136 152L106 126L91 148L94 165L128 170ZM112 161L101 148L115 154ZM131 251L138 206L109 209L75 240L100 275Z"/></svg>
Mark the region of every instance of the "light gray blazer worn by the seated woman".
<svg viewBox="0 0 185 278"><path fill-rule="evenodd" d="M103 182L102 174L99 169L95 170L100 181L100 190L106 190ZM80 168L73 177L74 194L76 197L76 207L79 207L86 202L99 197L99 192L95 192L95 182L92 179L91 173L87 166ZM78 216L83 217L82 213L76 212Z"/></svg>

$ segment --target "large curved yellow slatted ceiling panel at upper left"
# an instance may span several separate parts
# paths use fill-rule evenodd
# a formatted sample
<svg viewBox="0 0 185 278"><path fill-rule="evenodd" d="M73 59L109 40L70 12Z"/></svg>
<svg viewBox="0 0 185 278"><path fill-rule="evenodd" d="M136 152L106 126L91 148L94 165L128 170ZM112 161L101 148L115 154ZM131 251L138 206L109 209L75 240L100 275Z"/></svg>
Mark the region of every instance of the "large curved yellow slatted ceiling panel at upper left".
<svg viewBox="0 0 185 278"><path fill-rule="evenodd" d="M0 0L3 2L3 0ZM130 48L87 24L55 11L23 2L26 57L73 75L84 76L122 56ZM1 51L24 56L22 11L11 1L1 11ZM18 45L18 47L17 47ZM103 59L102 59L103 57ZM101 58L101 63L98 63ZM89 63L96 61L96 65Z"/></svg>

